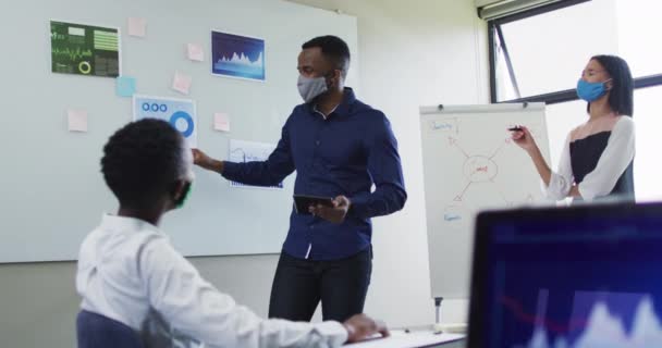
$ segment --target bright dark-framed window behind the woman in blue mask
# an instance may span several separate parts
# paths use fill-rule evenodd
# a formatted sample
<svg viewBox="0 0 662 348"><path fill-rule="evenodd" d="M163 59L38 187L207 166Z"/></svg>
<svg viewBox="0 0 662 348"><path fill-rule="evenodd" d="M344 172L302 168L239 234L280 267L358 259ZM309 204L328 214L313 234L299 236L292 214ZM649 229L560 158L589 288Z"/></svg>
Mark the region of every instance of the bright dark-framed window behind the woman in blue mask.
<svg viewBox="0 0 662 348"><path fill-rule="evenodd" d="M662 198L662 137L655 100L662 99L660 0L565 0L488 22L492 102L548 104L551 163L567 133L586 121L575 86L596 54L624 58L635 77L637 199ZM660 87L655 87L660 86Z"/></svg>

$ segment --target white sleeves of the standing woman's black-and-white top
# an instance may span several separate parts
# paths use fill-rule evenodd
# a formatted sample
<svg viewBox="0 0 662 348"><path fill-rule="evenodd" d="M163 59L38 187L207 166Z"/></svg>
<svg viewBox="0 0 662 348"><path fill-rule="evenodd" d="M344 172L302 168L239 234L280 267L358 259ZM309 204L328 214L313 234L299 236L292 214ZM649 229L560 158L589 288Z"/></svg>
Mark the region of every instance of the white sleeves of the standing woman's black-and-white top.
<svg viewBox="0 0 662 348"><path fill-rule="evenodd" d="M596 169L588 173L578 185L579 195L590 201L609 195L616 182L635 158L635 123L629 116L620 116L611 130L606 147L598 160ZM559 171L552 172L550 185L544 187L547 197L561 200L567 197L575 183L571 164L572 133L565 139Z"/></svg>

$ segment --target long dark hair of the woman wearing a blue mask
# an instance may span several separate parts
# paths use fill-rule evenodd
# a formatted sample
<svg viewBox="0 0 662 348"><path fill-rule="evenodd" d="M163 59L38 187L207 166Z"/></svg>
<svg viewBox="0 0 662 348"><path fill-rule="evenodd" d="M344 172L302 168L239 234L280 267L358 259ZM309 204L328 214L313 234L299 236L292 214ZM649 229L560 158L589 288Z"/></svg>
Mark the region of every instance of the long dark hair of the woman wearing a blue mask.
<svg viewBox="0 0 662 348"><path fill-rule="evenodd" d="M627 62L616 55L600 54L591 57L604 67L612 77L612 89L609 94L609 105L620 115L633 116L633 94L635 83ZM590 107L587 107L589 110Z"/></svg>

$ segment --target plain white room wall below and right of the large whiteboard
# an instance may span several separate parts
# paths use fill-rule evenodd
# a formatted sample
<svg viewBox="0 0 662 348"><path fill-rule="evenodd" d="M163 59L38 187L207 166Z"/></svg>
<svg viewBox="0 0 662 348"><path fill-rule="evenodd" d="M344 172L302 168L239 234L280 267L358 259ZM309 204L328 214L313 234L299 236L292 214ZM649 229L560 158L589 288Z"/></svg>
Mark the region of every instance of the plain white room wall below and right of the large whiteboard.
<svg viewBox="0 0 662 348"><path fill-rule="evenodd" d="M358 97L389 115L400 141L409 199L402 212L375 220L366 312L392 326L431 323L418 107L488 102L485 24L473 0L295 2L358 17ZM221 290L266 314L277 257L193 261ZM3 347L74 346L74 272L71 262L0 265ZM442 321L464 321L465 307L466 301L445 302Z"/></svg>

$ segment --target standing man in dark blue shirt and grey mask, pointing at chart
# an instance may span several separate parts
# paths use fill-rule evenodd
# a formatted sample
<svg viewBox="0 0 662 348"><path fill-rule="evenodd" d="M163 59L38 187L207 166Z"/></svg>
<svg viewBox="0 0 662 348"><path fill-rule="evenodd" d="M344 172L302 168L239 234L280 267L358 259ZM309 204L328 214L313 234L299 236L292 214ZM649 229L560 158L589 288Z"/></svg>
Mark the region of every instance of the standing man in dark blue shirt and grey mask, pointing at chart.
<svg viewBox="0 0 662 348"><path fill-rule="evenodd" d="M338 37L302 46L297 86L305 103L294 108L266 161L217 161L194 150L197 165L226 179L273 186L296 170L295 195L334 198L333 207L293 210L270 318L309 321L320 300L323 320L363 312L372 270L370 217L401 210L407 198L389 120L344 87L348 67L350 49Z"/></svg>

